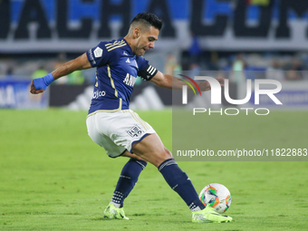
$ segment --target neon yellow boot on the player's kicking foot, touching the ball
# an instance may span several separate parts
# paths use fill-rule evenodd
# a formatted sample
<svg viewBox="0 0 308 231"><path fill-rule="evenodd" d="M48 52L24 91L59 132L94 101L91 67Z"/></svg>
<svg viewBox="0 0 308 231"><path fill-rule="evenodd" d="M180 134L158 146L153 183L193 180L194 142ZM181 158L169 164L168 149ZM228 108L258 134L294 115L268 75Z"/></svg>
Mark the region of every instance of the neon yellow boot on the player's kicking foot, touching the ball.
<svg viewBox="0 0 308 231"><path fill-rule="evenodd" d="M207 206L201 211L192 212L192 222L197 223L225 223L231 222L232 217L218 214L213 207Z"/></svg>

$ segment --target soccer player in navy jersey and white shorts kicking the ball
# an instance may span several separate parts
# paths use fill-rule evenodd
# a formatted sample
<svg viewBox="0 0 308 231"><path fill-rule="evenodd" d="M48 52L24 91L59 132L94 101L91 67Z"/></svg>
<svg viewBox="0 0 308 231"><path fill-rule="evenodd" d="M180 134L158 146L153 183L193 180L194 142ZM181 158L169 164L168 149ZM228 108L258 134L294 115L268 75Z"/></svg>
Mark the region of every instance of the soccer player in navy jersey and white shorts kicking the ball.
<svg viewBox="0 0 308 231"><path fill-rule="evenodd" d="M186 202L193 222L229 222L231 217L205 207L197 196L188 175L183 172L159 139L159 135L139 115L130 110L130 94L136 77L160 87L181 89L186 83L159 72L142 57L154 48L162 22L155 14L140 13L130 23L124 38L101 42L78 58L64 63L43 78L34 79L31 92L43 92L54 80L76 70L97 68L91 107L86 120L91 140L104 148L111 158L128 157L122 168L111 203L104 217L129 219L123 202L135 186L147 162L159 169L170 188ZM223 79L219 79L223 82ZM208 82L197 82L201 91L210 90Z"/></svg>

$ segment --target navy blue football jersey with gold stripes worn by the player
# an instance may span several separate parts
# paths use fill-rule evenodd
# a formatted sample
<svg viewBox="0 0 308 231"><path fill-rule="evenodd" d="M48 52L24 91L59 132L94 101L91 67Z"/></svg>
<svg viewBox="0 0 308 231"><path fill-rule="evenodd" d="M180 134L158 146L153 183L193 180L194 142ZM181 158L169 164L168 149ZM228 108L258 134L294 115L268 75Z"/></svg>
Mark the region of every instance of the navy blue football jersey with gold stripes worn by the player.
<svg viewBox="0 0 308 231"><path fill-rule="evenodd" d="M136 78L151 67L149 62L136 56L124 38L99 43L87 52L87 57L97 68L89 114L129 109Z"/></svg>

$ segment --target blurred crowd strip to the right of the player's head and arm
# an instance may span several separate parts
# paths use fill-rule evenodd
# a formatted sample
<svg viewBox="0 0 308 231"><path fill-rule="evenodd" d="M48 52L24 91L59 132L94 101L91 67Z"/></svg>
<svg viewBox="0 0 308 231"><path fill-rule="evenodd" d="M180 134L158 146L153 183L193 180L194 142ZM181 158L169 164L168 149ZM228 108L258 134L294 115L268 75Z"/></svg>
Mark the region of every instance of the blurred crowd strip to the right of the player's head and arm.
<svg viewBox="0 0 308 231"><path fill-rule="evenodd" d="M191 77L216 72L219 77L240 82L244 79L277 81L308 80L308 52L216 52L201 49L197 36L191 34L191 44L180 57L169 53L165 72L188 71ZM242 72L243 74L241 74ZM217 77L217 76L216 76Z"/></svg>

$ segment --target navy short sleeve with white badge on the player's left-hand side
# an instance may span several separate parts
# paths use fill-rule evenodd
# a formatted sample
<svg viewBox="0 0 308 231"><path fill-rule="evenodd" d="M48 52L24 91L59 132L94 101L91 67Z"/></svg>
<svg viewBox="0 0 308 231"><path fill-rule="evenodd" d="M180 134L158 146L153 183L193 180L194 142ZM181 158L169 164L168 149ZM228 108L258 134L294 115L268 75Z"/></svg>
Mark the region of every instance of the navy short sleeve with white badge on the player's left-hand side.
<svg viewBox="0 0 308 231"><path fill-rule="evenodd" d="M104 66L111 63L113 53L108 52L105 45L106 42L101 42L87 51L87 57L92 67Z"/></svg>

